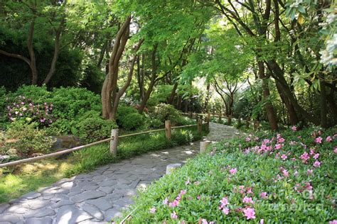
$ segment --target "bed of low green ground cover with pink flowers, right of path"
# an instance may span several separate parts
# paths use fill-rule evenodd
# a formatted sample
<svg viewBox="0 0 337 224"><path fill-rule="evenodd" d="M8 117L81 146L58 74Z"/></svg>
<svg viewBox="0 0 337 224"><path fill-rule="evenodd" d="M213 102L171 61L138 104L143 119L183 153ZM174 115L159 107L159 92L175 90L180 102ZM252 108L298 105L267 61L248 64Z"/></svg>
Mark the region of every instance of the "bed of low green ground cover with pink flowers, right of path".
<svg viewBox="0 0 337 224"><path fill-rule="evenodd" d="M212 145L141 191L129 222L337 223L336 133L293 127Z"/></svg>

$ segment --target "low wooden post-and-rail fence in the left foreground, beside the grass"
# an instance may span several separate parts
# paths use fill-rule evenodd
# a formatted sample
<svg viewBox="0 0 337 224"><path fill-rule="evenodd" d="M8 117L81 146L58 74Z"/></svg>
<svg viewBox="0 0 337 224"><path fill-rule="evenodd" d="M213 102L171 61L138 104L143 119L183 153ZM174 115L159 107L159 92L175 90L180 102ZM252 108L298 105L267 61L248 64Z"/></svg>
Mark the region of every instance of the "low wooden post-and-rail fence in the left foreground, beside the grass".
<svg viewBox="0 0 337 224"><path fill-rule="evenodd" d="M147 131L143 131L143 132L140 132L140 133L132 133L132 134L120 135L120 136L118 135L118 133L119 133L118 129L112 129L110 138L100 140L100 141L97 141L97 142L92 142L92 143L89 143L87 145L80 145L80 146L73 147L73 148L68 149L68 150L62 150L60 152L53 152L53 153L50 153L50 154L47 154L47 155L41 155L41 156L38 156L38 157L31 157L31 158L27 158L27 159L16 160L16 161L13 161L13 162L6 162L6 163L3 163L3 164L0 164L0 168L1 167L10 167L10 166L23 164L23 163L27 163L27 162L33 162L33 161L36 161L36 160L46 159L46 158L49 158L49 157L56 157L56 156L59 156L59 155L63 155L65 153L74 152L74 151L77 151L77 150L82 150L86 147L91 147L93 145L98 145L102 142L110 142L110 146L109 146L110 153L112 153L113 155L117 155L117 144L118 144L119 138L126 138L126 137L129 137L129 136L142 135L142 134L146 134L146 133L155 133L155 132L165 130L166 138L171 140L172 129L198 126L198 133L201 134L202 129L203 129L203 124L205 124L205 129L209 130L209 122L203 123L203 121L200 120L200 119L198 120L198 123L193 124L193 125L181 125L181 126L175 126L175 127L171 127L171 121L165 121L165 128L156 129L156 130L147 130Z"/></svg>

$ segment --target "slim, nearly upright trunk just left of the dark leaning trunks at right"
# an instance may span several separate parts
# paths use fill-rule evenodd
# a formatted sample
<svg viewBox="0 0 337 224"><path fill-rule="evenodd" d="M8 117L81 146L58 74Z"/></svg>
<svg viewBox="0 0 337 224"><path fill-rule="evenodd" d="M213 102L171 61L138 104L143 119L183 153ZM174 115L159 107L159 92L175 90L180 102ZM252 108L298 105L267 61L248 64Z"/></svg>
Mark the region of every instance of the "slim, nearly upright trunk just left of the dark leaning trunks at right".
<svg viewBox="0 0 337 224"><path fill-rule="evenodd" d="M274 106L272 106L272 103L269 102L268 98L270 95L269 92L269 85L268 85L268 79L269 77L267 77L265 75L265 70L264 70L264 63L258 61L257 62L258 68L259 68L259 78L262 80L262 99L266 100L267 102L264 103L264 109L267 112L267 118L269 121L269 125L270 128L272 130L277 130L277 118L276 118L276 113L274 111Z"/></svg>

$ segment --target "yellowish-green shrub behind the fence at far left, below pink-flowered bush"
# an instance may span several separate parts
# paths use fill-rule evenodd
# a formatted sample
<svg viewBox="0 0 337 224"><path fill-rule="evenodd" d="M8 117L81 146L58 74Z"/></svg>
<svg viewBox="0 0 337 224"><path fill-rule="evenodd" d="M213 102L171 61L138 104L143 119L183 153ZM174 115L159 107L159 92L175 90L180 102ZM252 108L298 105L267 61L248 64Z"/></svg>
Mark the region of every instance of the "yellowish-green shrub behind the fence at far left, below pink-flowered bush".
<svg viewBox="0 0 337 224"><path fill-rule="evenodd" d="M6 131L5 147L9 150L15 149L16 154L22 157L48 152L54 140L47 136L46 130L39 130L36 126L36 123L11 123ZM9 151L6 153L9 154Z"/></svg>

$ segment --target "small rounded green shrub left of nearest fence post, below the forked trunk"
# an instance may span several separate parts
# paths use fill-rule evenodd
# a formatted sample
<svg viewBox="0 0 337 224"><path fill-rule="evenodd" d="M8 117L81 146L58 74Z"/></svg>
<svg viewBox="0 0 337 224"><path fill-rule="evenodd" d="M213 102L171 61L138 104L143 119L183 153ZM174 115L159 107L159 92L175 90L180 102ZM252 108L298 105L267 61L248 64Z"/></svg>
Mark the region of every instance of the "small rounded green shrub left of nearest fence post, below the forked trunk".
<svg viewBox="0 0 337 224"><path fill-rule="evenodd" d="M109 138L111 130L117 128L114 121L100 117L87 117L76 125L76 134L85 143Z"/></svg>

